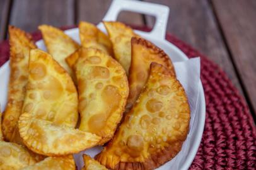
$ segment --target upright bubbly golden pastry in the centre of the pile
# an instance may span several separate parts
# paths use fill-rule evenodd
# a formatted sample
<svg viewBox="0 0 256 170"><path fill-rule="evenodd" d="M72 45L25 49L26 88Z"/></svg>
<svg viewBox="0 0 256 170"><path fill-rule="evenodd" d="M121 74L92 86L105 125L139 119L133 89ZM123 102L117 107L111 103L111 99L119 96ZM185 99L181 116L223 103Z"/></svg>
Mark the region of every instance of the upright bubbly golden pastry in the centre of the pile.
<svg viewBox="0 0 256 170"><path fill-rule="evenodd" d="M112 139L122 118L129 85L122 65L96 48L80 48L74 65L78 79L79 130Z"/></svg>

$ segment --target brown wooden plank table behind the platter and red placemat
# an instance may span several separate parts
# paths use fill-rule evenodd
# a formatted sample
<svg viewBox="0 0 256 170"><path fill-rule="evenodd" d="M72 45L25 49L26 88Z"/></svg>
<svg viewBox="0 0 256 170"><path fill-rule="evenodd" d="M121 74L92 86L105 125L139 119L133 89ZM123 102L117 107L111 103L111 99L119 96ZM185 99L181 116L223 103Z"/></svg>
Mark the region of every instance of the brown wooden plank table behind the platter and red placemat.
<svg viewBox="0 0 256 170"><path fill-rule="evenodd" d="M167 31L216 62L246 99L256 120L256 1L143 0L170 7ZM35 31L41 24L99 23L112 0L0 0L0 40L8 25ZM119 21L154 25L154 18L122 12Z"/></svg>

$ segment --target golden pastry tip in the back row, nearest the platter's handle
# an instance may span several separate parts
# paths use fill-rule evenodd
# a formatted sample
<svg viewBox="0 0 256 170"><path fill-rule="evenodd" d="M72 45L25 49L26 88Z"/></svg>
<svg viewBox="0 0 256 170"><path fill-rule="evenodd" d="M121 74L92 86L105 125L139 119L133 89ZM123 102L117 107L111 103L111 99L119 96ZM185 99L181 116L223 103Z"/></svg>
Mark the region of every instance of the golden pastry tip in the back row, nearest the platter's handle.
<svg viewBox="0 0 256 170"><path fill-rule="evenodd" d="M131 38L138 37L138 35L124 23L113 21L104 21L103 23L113 44L114 57L128 74L131 65Z"/></svg>

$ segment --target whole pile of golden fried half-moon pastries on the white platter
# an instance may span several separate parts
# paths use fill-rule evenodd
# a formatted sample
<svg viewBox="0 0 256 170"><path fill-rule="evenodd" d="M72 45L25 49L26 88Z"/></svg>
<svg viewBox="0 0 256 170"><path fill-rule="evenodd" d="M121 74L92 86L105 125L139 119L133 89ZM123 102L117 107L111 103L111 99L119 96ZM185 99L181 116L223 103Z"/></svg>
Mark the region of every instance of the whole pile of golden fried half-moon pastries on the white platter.
<svg viewBox="0 0 256 170"><path fill-rule="evenodd" d="M1 116L0 169L155 169L181 150L190 108L172 60L124 23L108 35L81 21L75 42L40 25L47 52L9 26L8 104Z"/></svg>

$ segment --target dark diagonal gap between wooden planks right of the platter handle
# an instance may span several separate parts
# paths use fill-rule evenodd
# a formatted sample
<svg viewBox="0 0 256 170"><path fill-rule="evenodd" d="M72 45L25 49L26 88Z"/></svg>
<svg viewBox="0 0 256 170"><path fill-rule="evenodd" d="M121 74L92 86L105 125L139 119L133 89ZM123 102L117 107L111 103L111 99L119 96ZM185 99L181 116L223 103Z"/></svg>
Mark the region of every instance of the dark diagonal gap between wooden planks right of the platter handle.
<svg viewBox="0 0 256 170"><path fill-rule="evenodd" d="M212 0L208 0L208 3L209 3L209 6L212 9L213 16L214 16L214 18L216 20L216 25L217 25L217 27L219 29L219 33L220 33L221 37L223 38L224 47L226 48L226 51L228 52L228 57L230 57L231 64L234 67L234 71L235 71L236 77L238 78L238 82L239 82L239 84L241 86L241 90L242 90L242 92L243 92L243 94L245 96L245 101L247 101L247 105L249 107L249 110L251 112L253 120L256 123L256 114L255 114L256 112L255 112L255 110L253 108L252 101L250 101L249 95L248 95L247 91L245 90L246 89L245 88L245 84L241 80L241 75L240 75L240 73L239 73L239 71L237 69L237 65L235 64L235 61L234 61L234 59L232 57L231 49L230 49L230 47L228 45L228 41L226 39L226 36L224 35L223 28L221 27L221 23L219 21L218 15L217 15L216 8L215 8L214 4L212 3Z"/></svg>

